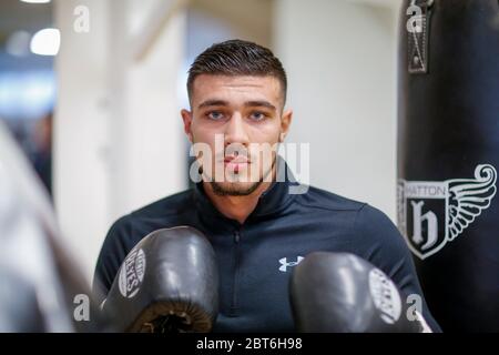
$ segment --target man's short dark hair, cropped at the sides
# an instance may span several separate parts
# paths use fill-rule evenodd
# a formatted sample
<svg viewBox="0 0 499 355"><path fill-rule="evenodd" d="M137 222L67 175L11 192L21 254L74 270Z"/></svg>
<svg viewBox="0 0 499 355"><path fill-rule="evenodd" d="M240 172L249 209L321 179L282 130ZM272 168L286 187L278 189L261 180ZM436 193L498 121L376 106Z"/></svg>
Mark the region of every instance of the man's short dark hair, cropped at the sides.
<svg viewBox="0 0 499 355"><path fill-rule="evenodd" d="M189 70L187 93L192 98L194 80L201 74L275 77L286 102L287 78L281 61L262 45L243 40L215 43L202 52Z"/></svg>

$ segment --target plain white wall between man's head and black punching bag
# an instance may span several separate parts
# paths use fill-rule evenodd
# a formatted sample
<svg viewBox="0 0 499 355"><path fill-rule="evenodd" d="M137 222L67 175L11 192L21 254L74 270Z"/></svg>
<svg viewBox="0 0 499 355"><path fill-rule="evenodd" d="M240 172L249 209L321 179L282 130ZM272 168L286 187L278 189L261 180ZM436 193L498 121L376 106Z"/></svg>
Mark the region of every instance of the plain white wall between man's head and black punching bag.
<svg viewBox="0 0 499 355"><path fill-rule="evenodd" d="M277 0L274 47L310 183L395 219L396 11L369 2Z"/></svg>

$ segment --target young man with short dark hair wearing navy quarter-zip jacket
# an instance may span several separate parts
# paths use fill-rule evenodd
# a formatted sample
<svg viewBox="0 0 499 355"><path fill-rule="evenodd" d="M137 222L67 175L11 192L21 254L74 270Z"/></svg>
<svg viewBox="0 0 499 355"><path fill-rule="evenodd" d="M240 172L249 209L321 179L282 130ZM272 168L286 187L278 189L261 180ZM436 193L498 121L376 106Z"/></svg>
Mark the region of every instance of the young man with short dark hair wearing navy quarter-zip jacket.
<svg viewBox="0 0 499 355"><path fill-rule="evenodd" d="M286 85L279 60L255 43L226 41L196 58L187 81L191 111L181 114L189 140L201 146L202 181L114 223L95 270L101 297L142 237L177 225L200 230L215 250L220 313L214 331L294 331L289 275L314 251L356 254L405 294L421 295L410 253L387 216L312 186L291 193L293 179L278 179L286 165L276 148L293 118L285 110ZM439 329L424 300L422 316Z"/></svg>

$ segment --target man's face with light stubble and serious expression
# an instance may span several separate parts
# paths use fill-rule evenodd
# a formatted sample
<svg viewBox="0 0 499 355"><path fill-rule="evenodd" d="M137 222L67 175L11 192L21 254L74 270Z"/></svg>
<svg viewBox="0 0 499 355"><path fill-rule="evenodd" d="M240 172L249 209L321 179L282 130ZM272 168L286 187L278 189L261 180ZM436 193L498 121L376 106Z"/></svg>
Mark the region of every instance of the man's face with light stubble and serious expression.
<svg viewBox="0 0 499 355"><path fill-rule="evenodd" d="M247 195L267 180L292 111L283 113L283 94L274 77L196 77L184 129L203 154L203 180L222 195ZM208 152L205 151L210 148Z"/></svg>

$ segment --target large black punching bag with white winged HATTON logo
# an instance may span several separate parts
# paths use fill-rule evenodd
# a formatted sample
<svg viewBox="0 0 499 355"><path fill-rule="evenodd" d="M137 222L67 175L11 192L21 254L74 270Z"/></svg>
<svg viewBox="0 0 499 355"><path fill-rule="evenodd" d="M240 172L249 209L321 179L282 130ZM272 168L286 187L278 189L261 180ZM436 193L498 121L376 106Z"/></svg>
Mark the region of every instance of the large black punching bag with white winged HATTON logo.
<svg viewBox="0 0 499 355"><path fill-rule="evenodd" d="M405 0L398 225L444 332L499 332L499 0Z"/></svg>

